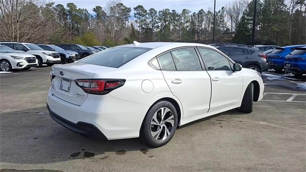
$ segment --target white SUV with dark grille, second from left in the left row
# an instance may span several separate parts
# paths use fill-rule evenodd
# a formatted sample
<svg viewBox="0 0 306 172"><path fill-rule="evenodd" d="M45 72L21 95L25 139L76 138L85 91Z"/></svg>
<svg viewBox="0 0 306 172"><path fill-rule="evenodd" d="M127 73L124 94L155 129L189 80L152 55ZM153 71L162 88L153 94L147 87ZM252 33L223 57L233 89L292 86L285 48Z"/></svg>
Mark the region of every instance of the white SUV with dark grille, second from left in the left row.
<svg viewBox="0 0 306 172"><path fill-rule="evenodd" d="M34 55L38 60L39 67L41 67L43 64L52 66L54 63L61 62L61 57L58 52L43 50L39 46L32 43L1 42L0 45L5 45L6 47L10 47L18 52Z"/></svg>

